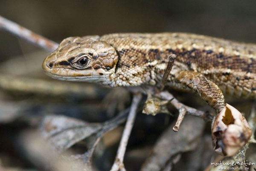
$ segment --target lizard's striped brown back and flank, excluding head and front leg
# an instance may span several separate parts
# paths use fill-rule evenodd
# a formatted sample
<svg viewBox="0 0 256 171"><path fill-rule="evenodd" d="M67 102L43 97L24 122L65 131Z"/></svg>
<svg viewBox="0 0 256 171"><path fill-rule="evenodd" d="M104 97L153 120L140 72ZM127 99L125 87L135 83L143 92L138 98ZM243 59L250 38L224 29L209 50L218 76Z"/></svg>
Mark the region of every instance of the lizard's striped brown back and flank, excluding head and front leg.
<svg viewBox="0 0 256 171"><path fill-rule="evenodd" d="M107 34L100 37L113 46L118 55L117 68L127 72L136 68L144 78L139 82L154 85L163 75L168 57L177 58L169 85L181 70L197 71L215 82L226 94L256 99L256 45L186 33ZM141 71L141 72L140 72Z"/></svg>

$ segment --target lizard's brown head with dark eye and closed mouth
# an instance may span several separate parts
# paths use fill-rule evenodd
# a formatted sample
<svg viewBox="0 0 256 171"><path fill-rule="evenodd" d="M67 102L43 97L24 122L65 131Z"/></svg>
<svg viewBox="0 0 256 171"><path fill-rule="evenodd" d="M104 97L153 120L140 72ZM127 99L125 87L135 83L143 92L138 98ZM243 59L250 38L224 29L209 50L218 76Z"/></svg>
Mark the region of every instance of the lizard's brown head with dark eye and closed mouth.
<svg viewBox="0 0 256 171"><path fill-rule="evenodd" d="M58 80L111 85L117 61L115 48L99 36L68 37L45 58L42 68Z"/></svg>

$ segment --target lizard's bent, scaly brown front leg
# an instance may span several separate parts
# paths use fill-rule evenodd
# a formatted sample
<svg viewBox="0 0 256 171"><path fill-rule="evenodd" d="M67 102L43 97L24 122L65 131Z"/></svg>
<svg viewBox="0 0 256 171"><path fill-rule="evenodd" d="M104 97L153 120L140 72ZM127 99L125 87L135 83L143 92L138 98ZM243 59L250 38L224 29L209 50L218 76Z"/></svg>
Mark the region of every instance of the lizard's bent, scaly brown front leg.
<svg viewBox="0 0 256 171"><path fill-rule="evenodd" d="M215 109L218 114L224 108L224 96L218 85L198 72L180 71L175 74L175 82L182 87L195 91L208 105Z"/></svg>

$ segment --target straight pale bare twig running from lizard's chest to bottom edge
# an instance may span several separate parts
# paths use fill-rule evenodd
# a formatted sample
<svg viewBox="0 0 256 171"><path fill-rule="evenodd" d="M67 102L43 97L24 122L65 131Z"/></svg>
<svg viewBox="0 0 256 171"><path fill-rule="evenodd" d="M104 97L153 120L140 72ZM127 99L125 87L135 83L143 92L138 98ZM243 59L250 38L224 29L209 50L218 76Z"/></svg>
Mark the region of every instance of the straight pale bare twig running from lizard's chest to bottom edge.
<svg viewBox="0 0 256 171"><path fill-rule="evenodd" d="M131 129L134 125L136 111L137 111L137 108L138 108L141 98L142 98L141 94L134 94L134 97L133 97L133 100L131 103L131 108L129 111L129 115L127 118L127 122L125 124L125 129L123 131L122 138L121 138L121 141L120 141L120 144L118 147L118 151L116 154L116 160L115 160L114 164L112 165L111 171L119 171L119 170L125 171L125 167L123 164L125 150L126 150L126 146L128 143L128 139L131 134Z"/></svg>

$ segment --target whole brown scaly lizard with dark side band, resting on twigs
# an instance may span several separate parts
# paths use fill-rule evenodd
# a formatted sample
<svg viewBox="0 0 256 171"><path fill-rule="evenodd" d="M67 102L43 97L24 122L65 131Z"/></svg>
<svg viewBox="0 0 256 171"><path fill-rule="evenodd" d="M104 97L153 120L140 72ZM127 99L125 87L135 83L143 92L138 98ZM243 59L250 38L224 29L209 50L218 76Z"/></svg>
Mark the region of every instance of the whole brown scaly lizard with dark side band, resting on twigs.
<svg viewBox="0 0 256 171"><path fill-rule="evenodd" d="M256 45L186 33L69 37L42 65L53 78L110 86L157 85L176 54L167 86L193 90L218 114L221 91L256 99Z"/></svg>

